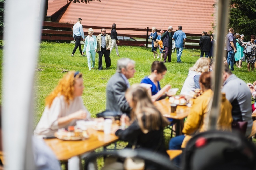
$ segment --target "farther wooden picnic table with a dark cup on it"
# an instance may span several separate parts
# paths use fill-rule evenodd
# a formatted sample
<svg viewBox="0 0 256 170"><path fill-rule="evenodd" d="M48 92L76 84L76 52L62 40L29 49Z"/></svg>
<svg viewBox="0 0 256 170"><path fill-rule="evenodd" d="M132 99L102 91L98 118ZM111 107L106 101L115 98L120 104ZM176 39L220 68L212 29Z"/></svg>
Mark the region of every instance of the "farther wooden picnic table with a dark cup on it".
<svg viewBox="0 0 256 170"><path fill-rule="evenodd" d="M180 134L180 121L188 116L191 108L188 106L178 105L176 112L171 113L170 104L171 103L169 102L169 99L162 99L154 102L154 105L162 113L163 116L177 120L176 134Z"/></svg>

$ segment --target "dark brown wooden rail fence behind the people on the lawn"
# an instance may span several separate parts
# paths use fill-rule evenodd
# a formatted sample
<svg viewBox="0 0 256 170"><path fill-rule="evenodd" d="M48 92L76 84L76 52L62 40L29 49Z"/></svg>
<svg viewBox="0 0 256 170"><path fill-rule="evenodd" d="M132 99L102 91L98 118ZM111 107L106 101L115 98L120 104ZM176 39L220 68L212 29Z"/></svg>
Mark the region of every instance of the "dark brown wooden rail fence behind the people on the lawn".
<svg viewBox="0 0 256 170"><path fill-rule="evenodd" d="M72 30L72 28L73 28L73 24L48 22L48 21L43 21L43 26L44 27L55 27L55 28L70 28L70 30ZM103 27L83 25L83 28L101 29ZM104 27L104 28L111 30L111 27ZM148 47L148 44L151 44L151 41L150 42L148 41L148 36L150 33L150 29L148 27L147 28L118 28L118 30L144 31L146 33L145 35L130 35L130 34L119 34L118 33L118 36L142 39L142 41L120 40L119 45ZM160 30L156 30L156 31L160 32ZM94 34L98 35L98 34L100 34L100 32L94 32ZM84 35L86 36L86 35L88 35L88 33L84 32ZM199 38L200 38L201 34L186 33L186 36L187 36L186 46L185 46L186 48L195 48L195 49L200 48L199 47ZM53 30L53 29L42 29L41 39L42 40L68 40L68 41L74 40L73 31Z"/></svg>

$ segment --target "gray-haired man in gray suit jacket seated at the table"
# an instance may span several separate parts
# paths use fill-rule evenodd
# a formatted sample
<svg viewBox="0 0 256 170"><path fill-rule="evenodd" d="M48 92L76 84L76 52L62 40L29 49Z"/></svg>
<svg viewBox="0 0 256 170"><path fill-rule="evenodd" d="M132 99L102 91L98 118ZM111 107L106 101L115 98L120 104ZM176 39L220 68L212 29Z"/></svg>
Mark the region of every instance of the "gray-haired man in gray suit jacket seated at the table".
<svg viewBox="0 0 256 170"><path fill-rule="evenodd" d="M130 87L128 79L135 73L135 62L129 58L117 61L116 73L109 79L106 87L106 109L130 114L131 108L125 99L125 91Z"/></svg>

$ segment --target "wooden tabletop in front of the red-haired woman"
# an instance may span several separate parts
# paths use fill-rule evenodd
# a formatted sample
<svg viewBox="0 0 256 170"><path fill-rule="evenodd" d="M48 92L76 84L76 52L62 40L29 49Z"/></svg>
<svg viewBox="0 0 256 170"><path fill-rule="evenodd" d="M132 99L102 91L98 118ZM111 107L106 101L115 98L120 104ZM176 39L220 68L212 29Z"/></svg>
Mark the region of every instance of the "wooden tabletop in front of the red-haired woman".
<svg viewBox="0 0 256 170"><path fill-rule="evenodd" d="M89 138L85 140L44 139L53 150L58 160L68 160L73 156L94 151L116 142L119 138L114 134L104 134L103 131L88 129Z"/></svg>

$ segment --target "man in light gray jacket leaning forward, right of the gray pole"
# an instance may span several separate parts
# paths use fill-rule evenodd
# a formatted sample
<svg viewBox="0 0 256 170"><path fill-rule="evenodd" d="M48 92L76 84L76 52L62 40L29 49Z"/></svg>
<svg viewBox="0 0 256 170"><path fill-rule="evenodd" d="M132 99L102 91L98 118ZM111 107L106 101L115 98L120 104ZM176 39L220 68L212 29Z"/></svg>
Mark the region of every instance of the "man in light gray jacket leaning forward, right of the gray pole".
<svg viewBox="0 0 256 170"><path fill-rule="evenodd" d="M232 117L234 121L247 121L247 129L245 136L249 136L252 132L252 99L251 92L246 83L232 74L228 66L225 66L223 72L223 88L222 92L226 94L226 98L232 104Z"/></svg>

